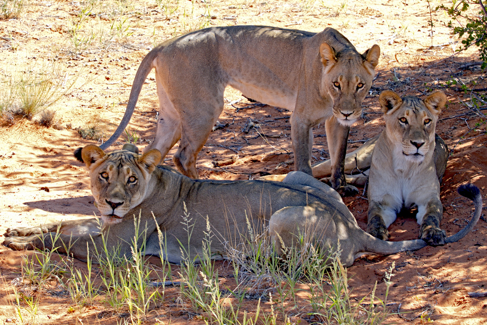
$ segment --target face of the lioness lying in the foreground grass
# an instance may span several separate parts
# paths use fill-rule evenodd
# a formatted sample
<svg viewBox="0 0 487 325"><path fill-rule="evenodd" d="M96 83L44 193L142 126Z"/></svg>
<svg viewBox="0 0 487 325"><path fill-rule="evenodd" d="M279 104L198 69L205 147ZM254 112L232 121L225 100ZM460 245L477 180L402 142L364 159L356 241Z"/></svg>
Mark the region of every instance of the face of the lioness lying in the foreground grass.
<svg viewBox="0 0 487 325"><path fill-rule="evenodd" d="M143 155L127 150L105 153L94 145L81 151L90 172L91 191L104 224L120 223L125 214L138 206L150 190L150 174L161 160L161 153Z"/></svg>

